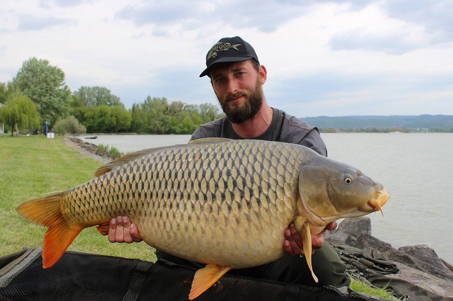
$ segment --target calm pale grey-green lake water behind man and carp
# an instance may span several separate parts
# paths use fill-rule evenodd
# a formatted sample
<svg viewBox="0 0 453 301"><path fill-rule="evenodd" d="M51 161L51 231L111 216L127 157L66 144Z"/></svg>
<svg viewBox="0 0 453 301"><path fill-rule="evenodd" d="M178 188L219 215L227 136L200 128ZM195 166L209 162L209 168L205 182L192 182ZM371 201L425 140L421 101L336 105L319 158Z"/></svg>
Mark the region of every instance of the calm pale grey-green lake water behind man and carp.
<svg viewBox="0 0 453 301"><path fill-rule="evenodd" d="M453 134L322 133L328 157L381 182L390 200L371 218L372 234L399 248L427 244L453 263ZM87 136L79 136L83 139ZM84 139L125 152L177 143L190 135L98 135Z"/></svg>

